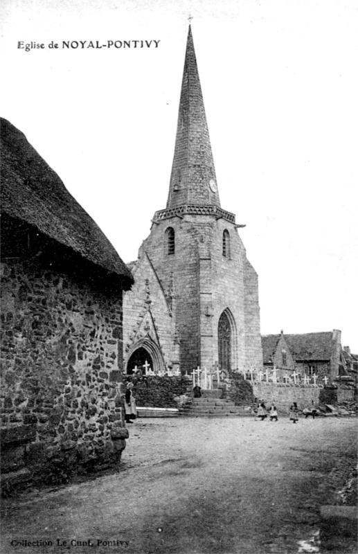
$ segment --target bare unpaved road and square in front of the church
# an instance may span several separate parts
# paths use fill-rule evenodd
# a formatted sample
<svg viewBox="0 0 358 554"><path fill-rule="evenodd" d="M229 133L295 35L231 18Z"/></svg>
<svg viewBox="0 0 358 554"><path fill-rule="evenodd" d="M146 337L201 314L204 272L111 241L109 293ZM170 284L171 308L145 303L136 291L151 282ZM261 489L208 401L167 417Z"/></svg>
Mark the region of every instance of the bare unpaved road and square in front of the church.
<svg viewBox="0 0 358 554"><path fill-rule="evenodd" d="M2 553L298 553L356 463L353 419L143 419L129 432L118 473L3 501ZM38 545L12 546L25 540Z"/></svg>

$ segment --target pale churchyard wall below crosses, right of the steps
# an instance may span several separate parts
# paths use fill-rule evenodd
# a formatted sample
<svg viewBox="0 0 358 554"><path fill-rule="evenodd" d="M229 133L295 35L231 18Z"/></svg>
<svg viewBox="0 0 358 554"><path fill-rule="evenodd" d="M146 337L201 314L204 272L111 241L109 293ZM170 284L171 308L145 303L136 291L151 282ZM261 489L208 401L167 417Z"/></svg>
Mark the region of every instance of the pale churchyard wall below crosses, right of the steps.
<svg viewBox="0 0 358 554"><path fill-rule="evenodd" d="M281 413L289 413L292 402L296 402L299 409L310 408L312 401L319 404L322 390L323 387L314 385L253 383L253 395L264 400L267 407L274 403Z"/></svg>

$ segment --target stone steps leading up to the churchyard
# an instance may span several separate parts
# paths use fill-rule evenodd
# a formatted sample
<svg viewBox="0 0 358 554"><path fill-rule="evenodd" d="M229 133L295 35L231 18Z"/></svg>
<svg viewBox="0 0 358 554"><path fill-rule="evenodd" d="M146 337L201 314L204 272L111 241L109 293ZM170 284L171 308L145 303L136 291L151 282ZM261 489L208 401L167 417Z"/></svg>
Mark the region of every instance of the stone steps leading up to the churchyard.
<svg viewBox="0 0 358 554"><path fill-rule="evenodd" d="M180 417L190 418L235 418L254 417L251 406L235 406L231 400L226 398L193 398L185 406L179 409Z"/></svg>

